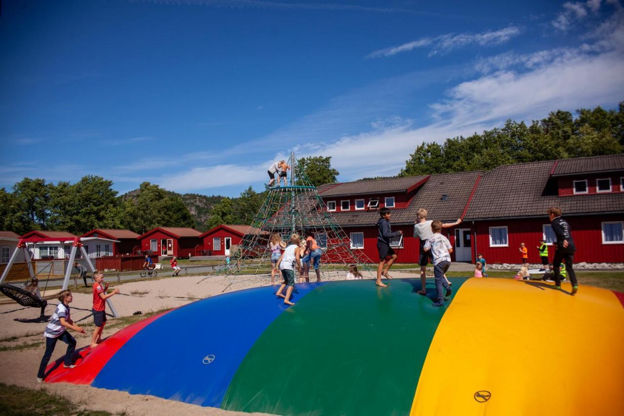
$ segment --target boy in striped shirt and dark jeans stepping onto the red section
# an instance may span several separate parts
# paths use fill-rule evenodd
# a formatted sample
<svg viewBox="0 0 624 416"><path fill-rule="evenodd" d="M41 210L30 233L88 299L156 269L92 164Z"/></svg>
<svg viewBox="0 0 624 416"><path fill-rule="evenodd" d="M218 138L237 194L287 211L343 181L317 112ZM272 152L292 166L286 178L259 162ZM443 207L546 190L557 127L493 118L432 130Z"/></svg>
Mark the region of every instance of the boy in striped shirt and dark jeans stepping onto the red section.
<svg viewBox="0 0 624 416"><path fill-rule="evenodd" d="M73 329L80 332L80 334L84 334L84 329L80 328L78 325L74 325L74 321L72 321L69 316L69 304L72 300L74 300L72 297L72 291L62 290L62 292L58 295L58 299L61 303L56 306L54 314L52 314L52 320L49 324L47 324L46 330L44 331L44 335L46 336L46 352L41 359L39 372L37 372L38 383L41 383L46 375L47 363L50 362L52 352L54 352L54 347L56 347L56 342L58 340L67 344L65 364L63 367L66 369L74 368L74 350L76 349L76 339L74 339L74 337L66 331L66 328Z"/></svg>

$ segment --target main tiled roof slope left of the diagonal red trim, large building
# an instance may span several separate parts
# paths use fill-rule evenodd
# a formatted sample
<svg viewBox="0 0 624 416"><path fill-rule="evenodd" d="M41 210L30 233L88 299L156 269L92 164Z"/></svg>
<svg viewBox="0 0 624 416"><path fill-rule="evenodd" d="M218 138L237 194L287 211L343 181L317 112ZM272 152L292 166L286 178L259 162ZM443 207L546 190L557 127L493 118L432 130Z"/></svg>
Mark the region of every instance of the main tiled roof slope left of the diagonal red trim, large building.
<svg viewBox="0 0 624 416"><path fill-rule="evenodd" d="M393 224L413 224L417 211L429 211L429 219L444 222L461 217L477 177L481 172L459 172L432 175L416 192L416 196L404 209L392 209ZM446 195L446 199L442 196ZM374 225L379 219L378 210L332 212L332 217L341 227Z"/></svg>

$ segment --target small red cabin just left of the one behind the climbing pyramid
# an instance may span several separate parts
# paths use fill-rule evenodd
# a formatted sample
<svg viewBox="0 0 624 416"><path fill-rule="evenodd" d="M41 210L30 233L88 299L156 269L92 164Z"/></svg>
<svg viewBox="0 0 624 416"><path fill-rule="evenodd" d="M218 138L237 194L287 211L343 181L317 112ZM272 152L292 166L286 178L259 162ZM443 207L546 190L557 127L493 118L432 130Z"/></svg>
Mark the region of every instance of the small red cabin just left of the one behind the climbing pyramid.
<svg viewBox="0 0 624 416"><path fill-rule="evenodd" d="M140 241L143 252L188 257L195 255L195 247L202 244L200 234L202 233L192 228L156 227L139 235L137 240Z"/></svg>

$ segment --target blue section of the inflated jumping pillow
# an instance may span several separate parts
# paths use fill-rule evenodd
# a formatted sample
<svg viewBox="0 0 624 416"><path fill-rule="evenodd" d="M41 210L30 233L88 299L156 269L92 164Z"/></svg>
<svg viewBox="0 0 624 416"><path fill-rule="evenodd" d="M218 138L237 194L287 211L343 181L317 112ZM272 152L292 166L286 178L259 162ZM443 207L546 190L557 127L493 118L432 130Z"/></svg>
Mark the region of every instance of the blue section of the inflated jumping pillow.
<svg viewBox="0 0 624 416"><path fill-rule="evenodd" d="M296 285L293 301L323 284ZM287 309L275 290L241 290L172 310L128 340L91 385L218 407L251 346Z"/></svg>

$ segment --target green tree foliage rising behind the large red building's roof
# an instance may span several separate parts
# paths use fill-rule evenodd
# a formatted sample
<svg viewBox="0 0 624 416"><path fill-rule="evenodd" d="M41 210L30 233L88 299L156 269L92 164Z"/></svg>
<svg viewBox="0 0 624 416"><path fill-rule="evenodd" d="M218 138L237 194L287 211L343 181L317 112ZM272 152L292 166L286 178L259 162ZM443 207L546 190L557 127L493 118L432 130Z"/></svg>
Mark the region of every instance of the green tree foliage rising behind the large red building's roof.
<svg viewBox="0 0 624 416"><path fill-rule="evenodd" d="M444 144L422 143L406 161L399 176L482 171L504 164L550 161L568 157L602 156L624 151L624 102L618 111L554 111L548 117L446 139Z"/></svg>

